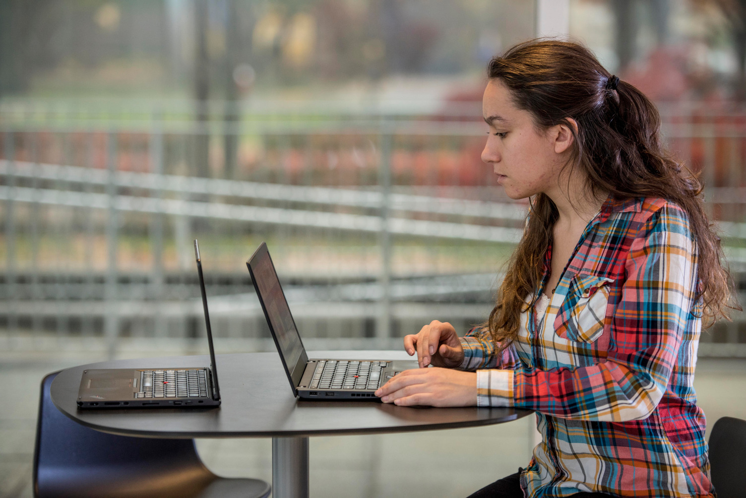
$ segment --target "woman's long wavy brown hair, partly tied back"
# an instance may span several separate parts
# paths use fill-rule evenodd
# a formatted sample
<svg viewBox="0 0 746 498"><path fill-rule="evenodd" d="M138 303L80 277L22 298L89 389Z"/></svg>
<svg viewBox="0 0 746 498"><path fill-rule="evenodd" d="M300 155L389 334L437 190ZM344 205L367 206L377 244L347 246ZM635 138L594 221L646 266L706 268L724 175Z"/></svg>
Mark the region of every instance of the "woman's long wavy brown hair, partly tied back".
<svg viewBox="0 0 746 498"><path fill-rule="evenodd" d="M720 238L703 210L702 184L663 148L659 113L639 89L624 81L612 89L612 75L588 48L559 40L515 45L494 57L487 73L510 90L518 109L531 113L537 130L557 124L571 130L574 141L567 166L580 168L590 195L665 198L687 212L698 253L695 300L702 300L705 327L719 317L729 318L727 308L740 309L731 300L733 283L723 266ZM568 118L577 122L577 131ZM533 306L525 300L539 286L558 216L547 195L533 198L524 236L483 324L483 332L492 335L500 350L515 340L521 312Z"/></svg>

